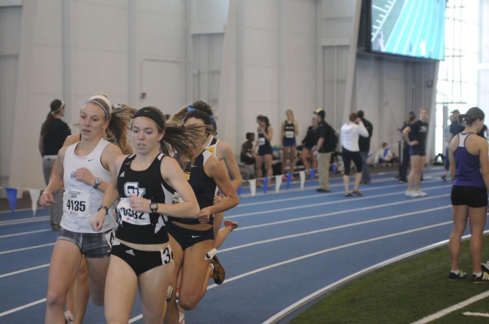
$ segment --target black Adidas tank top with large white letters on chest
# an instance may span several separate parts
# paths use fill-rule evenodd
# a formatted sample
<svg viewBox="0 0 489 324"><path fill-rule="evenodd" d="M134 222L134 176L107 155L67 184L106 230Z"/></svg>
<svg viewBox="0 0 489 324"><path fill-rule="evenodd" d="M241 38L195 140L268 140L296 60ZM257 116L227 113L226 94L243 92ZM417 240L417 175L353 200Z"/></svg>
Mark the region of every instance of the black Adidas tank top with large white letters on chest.
<svg viewBox="0 0 489 324"><path fill-rule="evenodd" d="M121 201L117 205L118 226L115 237L135 244L167 243L167 216L133 211L129 204L131 196L139 196L153 203L172 203L175 190L165 182L160 171L165 155L158 154L151 165L141 171L131 169L135 157L133 154L124 160L117 176L117 191Z"/></svg>

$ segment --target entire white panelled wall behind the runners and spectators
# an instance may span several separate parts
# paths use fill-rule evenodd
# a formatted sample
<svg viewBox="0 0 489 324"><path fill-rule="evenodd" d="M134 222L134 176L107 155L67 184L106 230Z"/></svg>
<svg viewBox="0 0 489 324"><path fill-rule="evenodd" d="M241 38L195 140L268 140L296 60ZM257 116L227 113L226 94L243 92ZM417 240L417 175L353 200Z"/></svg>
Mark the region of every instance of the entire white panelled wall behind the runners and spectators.
<svg viewBox="0 0 489 324"><path fill-rule="evenodd" d="M357 54L360 4L39 0L12 9L0 3L0 185L43 187L37 143L49 102L63 99L65 120L74 122L97 93L165 113L209 101L220 138L236 151L244 134L256 131L259 114L268 116L272 144L279 144L287 109L302 140L317 107L336 129L350 111L365 110L375 127L373 151L397 141L407 111L434 107L436 85L426 81L435 81L436 64Z"/></svg>

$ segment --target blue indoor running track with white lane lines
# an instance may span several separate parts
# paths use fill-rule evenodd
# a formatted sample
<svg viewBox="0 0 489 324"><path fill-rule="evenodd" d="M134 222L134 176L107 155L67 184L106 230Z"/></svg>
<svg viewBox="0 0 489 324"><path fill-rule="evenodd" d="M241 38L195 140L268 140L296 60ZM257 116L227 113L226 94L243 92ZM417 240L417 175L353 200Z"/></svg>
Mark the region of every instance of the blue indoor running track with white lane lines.
<svg viewBox="0 0 489 324"><path fill-rule="evenodd" d="M424 173L423 198L404 196L393 173L373 175L363 197L344 197L340 179L332 193L290 189L249 197L226 213L239 222L219 252L226 281L209 282L188 324L262 323L318 289L361 269L446 240L451 232L450 183L441 168ZM284 185L283 185L284 186ZM259 188L261 190L261 188ZM0 213L0 323L42 323L50 255L57 233L47 210ZM16 220L17 222L13 222ZM32 222L36 221L36 222ZM447 256L447 269L449 266ZM131 323L142 323L139 298ZM105 323L89 304L84 323Z"/></svg>

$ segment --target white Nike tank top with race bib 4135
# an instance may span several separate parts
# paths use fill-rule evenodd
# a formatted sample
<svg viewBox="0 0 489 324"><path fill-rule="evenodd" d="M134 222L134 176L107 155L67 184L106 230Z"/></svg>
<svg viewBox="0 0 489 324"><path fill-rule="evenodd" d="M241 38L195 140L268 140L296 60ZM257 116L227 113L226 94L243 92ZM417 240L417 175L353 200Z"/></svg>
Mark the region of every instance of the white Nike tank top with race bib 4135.
<svg viewBox="0 0 489 324"><path fill-rule="evenodd" d="M90 221L97 216L104 194L91 185L76 180L75 172L77 169L85 167L95 178L110 182L111 172L106 170L100 162L102 152L109 142L100 139L93 151L86 156L75 154L78 143L67 147L65 161L63 162L65 193L63 194L63 218L60 225L72 232L96 233L92 229ZM111 207L100 232L106 232L115 227L114 209Z"/></svg>

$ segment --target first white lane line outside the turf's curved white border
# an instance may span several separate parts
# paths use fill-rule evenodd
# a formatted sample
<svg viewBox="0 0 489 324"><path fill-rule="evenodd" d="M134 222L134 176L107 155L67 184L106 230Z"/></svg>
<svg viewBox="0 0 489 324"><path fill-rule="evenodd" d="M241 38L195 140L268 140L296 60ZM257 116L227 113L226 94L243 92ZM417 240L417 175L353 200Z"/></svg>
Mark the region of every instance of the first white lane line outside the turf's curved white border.
<svg viewBox="0 0 489 324"><path fill-rule="evenodd" d="M419 227L419 228L413 228L413 229L410 229L410 230L407 230L407 231L402 231L402 232L392 233L392 234L388 234L388 235L378 236L378 237L375 237L375 238L372 238L372 239L367 239L367 240L362 240L362 241L358 241L358 242L353 242L353 243L348 243L348 244L343 244L343 245L338 245L338 246L330 247L330 248L327 248L327 249L324 249L324 250L321 250L321 251L317 251L317 252L313 252L313 253L310 253L310 254L306 254L306 255L303 255L303 256L300 256L300 257L297 257L297 258L289 259L287 261L282 261L282 262L279 262L279 263L273 263L273 264L270 264L270 265L267 265L267 266L264 266L264 267L255 269L255 270L251 270L251 271L245 272L245 273L243 273L241 275L237 275L235 277L226 279L220 285L222 286L223 284L229 284L230 282L233 282L235 280L238 280L238 279L241 279L241 278L244 278L244 277L248 277L250 275L253 275L253 274L256 274L256 273L259 273L259 272L263 272L263 271L268 270L268 269L272 269L272 268L275 268L275 267L278 267L278 266L281 266L281 265L284 265L284 264L288 264L288 263L293 263L293 262L296 262L296 261L301 261L301 260L304 260L304 259L307 259L307 258L311 258L311 257L315 257L317 255L321 255L321 254L324 254L324 253L328 253L328 252L340 250L340 249L351 247L351 246L355 246L355 245L360 245L360 244L365 244L365 243L380 241L380 240L383 240L383 239L389 239L391 237L396 237L396 236L401 236L401 235L410 234L410 233L414 233L414 232L419 232L419 231L422 231L422 230L425 230L425 229L430 229L430 228L434 228L434 227L444 226L444 225L451 224L451 223L452 223L452 221L450 221L450 222L443 222L443 223L437 223L437 224L423 226L423 227ZM217 286L218 286L217 284L211 284L211 285L209 285L207 287L207 290L212 289L212 288L215 288ZM134 322L136 322L137 320L140 320L140 319L142 319L142 315L141 314L138 315L138 316L133 317L129 321L129 323L134 323Z"/></svg>

